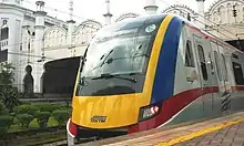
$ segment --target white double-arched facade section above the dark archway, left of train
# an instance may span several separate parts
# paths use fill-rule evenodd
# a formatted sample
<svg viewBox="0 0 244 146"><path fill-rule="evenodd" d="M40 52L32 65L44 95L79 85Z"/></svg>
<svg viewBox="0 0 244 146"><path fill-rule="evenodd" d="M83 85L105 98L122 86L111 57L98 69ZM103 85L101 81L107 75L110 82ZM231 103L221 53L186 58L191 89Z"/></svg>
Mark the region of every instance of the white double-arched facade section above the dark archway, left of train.
<svg viewBox="0 0 244 146"><path fill-rule="evenodd" d="M71 35L71 46L68 40L69 30L59 25L51 27L44 32L44 55L51 60L72 58L83 55L84 49L95 34L102 28L100 22L94 20L83 21L74 25ZM48 62L50 60L47 60Z"/></svg>

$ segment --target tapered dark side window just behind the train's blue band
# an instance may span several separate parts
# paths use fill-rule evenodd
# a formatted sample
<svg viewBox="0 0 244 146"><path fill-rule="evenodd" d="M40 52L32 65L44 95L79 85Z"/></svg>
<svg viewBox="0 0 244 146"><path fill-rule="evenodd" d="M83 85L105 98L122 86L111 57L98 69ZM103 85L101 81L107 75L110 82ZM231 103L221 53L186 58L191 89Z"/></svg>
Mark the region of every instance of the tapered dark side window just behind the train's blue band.
<svg viewBox="0 0 244 146"><path fill-rule="evenodd" d="M194 67L194 58L192 52L192 42L190 40L186 41L185 48L185 66Z"/></svg>

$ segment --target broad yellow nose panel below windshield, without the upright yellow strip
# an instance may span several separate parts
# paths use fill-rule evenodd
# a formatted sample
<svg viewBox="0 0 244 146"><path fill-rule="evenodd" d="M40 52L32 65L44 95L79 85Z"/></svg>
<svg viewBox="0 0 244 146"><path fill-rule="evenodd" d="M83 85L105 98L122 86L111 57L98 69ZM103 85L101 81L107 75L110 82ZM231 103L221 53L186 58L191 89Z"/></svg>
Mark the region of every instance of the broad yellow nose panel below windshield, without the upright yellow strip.
<svg viewBox="0 0 244 146"><path fill-rule="evenodd" d="M82 96L73 100L72 122L84 127L111 128L131 125L138 122L142 94L112 96ZM145 97L144 97L145 98ZM92 123L94 115L106 116L104 123Z"/></svg>

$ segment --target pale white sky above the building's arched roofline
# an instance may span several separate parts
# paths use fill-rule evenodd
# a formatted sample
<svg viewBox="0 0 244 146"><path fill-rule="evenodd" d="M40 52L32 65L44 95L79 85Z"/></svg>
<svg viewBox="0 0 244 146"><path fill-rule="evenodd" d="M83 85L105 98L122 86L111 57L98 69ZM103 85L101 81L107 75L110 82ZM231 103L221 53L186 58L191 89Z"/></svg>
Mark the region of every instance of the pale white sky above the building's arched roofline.
<svg viewBox="0 0 244 146"><path fill-rule="evenodd" d="M23 0L23 7L35 10L37 0ZM57 17L63 21L69 20L69 1L70 0L43 0L45 2L44 10L51 17ZM105 0L73 0L74 2L74 20L80 23L87 19L93 19L99 22L104 22L102 14L105 13ZM214 0L205 0L205 11ZM112 21L123 13L134 12L142 14L145 0L110 0ZM197 12L196 0L156 0L159 6L157 12L169 8L172 4L185 4Z"/></svg>

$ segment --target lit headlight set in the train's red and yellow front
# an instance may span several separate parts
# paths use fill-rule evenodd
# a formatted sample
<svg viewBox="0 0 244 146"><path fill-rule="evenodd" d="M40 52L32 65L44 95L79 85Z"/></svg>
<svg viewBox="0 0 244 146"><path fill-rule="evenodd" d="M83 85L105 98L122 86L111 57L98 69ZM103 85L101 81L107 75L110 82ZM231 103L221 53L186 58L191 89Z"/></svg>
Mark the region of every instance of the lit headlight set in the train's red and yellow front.
<svg viewBox="0 0 244 146"><path fill-rule="evenodd" d="M155 115L160 113L160 109L161 109L161 104L149 105L149 106L142 107L140 109L139 121L145 121L148 118L154 117Z"/></svg>

